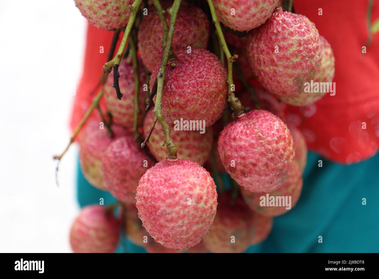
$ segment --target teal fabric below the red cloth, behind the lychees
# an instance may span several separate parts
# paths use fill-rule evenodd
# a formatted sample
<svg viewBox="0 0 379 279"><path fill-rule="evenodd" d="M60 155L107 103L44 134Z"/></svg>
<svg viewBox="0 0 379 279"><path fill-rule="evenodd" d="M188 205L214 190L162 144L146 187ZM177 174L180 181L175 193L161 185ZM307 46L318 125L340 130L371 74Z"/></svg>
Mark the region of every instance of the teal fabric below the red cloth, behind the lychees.
<svg viewBox="0 0 379 279"><path fill-rule="evenodd" d="M229 187L227 174L223 180ZM303 180L297 205L274 218L267 240L247 252L379 252L379 153L345 166L309 152ZM77 182L80 206L99 203L101 197L105 204L115 201L88 184L80 167ZM145 250L122 237L117 252Z"/></svg>

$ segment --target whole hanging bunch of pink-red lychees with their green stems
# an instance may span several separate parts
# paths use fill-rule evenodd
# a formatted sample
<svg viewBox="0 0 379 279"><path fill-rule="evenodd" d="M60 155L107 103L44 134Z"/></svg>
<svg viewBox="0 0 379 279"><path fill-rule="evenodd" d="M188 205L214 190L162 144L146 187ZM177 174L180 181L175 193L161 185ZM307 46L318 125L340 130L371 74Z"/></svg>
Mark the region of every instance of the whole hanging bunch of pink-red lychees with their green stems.
<svg viewBox="0 0 379 279"><path fill-rule="evenodd" d="M71 140L81 130L81 170L119 200L118 219L114 206L83 208L74 252L113 252L120 228L148 252L244 252L288 212L262 197L294 207L307 146L283 102L322 98L304 84L331 82L334 57L315 24L278 2L75 0L91 24L124 36ZM95 108L100 126L86 123Z"/></svg>

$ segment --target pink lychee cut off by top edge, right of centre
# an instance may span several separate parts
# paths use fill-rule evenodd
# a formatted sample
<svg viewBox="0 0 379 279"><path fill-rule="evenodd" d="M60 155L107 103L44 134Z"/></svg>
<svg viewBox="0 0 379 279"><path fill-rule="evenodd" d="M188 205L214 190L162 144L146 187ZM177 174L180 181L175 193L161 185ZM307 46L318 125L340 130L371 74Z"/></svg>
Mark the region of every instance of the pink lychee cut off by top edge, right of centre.
<svg viewBox="0 0 379 279"><path fill-rule="evenodd" d="M265 23L278 0L213 0L219 20L236 31L249 31ZM232 15L231 9L235 9Z"/></svg>

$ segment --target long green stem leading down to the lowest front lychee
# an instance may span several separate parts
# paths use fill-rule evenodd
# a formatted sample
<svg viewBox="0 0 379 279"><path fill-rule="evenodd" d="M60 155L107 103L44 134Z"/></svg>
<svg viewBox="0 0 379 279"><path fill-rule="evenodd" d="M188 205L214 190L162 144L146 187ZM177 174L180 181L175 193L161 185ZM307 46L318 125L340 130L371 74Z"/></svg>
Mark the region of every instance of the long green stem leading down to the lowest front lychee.
<svg viewBox="0 0 379 279"><path fill-rule="evenodd" d="M153 112L155 113L155 117L159 120L162 125L164 132L164 143L169 151L169 159L176 159L176 154L178 152L178 148L176 147L174 141L171 139L170 126L167 124L166 120L164 120L162 112L161 112L161 103L162 103L162 92L163 92L163 82L166 78L166 67L169 59L172 37L174 36L175 23L178 15L180 4L182 0L175 0L172 7L168 9L170 13L170 27L168 30L168 35L166 39L166 43L163 50L163 57L161 61L161 66L157 73L157 99L155 99L155 107Z"/></svg>

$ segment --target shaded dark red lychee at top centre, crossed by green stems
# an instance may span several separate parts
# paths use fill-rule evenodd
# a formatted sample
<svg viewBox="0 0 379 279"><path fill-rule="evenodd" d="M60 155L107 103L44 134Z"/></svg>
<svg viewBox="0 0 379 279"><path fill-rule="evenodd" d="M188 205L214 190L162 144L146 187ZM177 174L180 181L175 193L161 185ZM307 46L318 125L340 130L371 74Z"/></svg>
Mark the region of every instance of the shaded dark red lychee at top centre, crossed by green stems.
<svg viewBox="0 0 379 279"><path fill-rule="evenodd" d="M161 1L162 8L167 9L172 1ZM165 13L169 25L170 15ZM144 65L152 73L155 67L160 65L162 51L163 28L161 20L152 6L147 11L147 16L142 17L138 31L138 49ZM190 47L207 47L209 38L209 22L207 15L200 9L186 2L180 5L175 24L172 49L179 50Z"/></svg>

